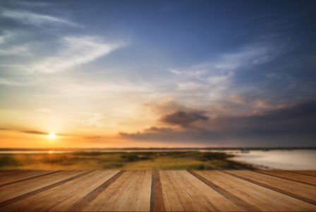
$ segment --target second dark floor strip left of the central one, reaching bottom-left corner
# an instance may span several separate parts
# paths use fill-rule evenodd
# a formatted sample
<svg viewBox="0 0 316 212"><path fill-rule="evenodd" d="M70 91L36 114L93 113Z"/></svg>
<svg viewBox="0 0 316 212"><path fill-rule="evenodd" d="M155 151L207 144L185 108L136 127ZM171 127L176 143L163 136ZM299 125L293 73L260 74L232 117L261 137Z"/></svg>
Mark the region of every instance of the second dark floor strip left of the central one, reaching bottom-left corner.
<svg viewBox="0 0 316 212"><path fill-rule="evenodd" d="M9 204L13 204L13 203L16 202L16 201L20 201L20 200L26 199L26 198L28 198L29 196L33 196L33 195L35 195L35 194L42 193L42 192L44 192L44 191L47 191L48 189L52 189L52 188L57 187L57 186L59 186L59 185L61 185L61 184L65 184L66 182L69 182L69 181L71 181L71 180L73 180L73 179L77 179L78 177L82 177L83 175L87 175L87 174L89 174L90 172L91 172L91 171L84 172L84 173L82 173L82 174L80 174L80 175L75 175L75 176L70 177L70 178L68 178L68 179L63 179L63 180L60 181L60 182L55 182L54 184L50 184L50 185L48 185L48 186L46 186L46 187L42 187L41 189L36 189L35 191L28 192L28 193L22 194L22 195L20 195L20 196L16 196L16 197L14 197L14 198L12 198L12 199L8 199L8 200L3 201L3 202L0 203L0 208L2 208L2 207L4 207L4 206L8 206Z"/></svg>

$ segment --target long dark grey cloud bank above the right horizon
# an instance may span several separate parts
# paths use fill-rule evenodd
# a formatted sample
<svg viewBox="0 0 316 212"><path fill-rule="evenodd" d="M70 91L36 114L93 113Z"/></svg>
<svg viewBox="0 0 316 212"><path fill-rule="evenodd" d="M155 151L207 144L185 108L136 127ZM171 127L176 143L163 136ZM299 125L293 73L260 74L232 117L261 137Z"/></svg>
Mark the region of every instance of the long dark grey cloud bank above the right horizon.
<svg viewBox="0 0 316 212"><path fill-rule="evenodd" d="M316 100L269 110L264 114L210 118L207 112L176 111L143 133L121 136L142 141L200 143L204 146L316 146Z"/></svg>

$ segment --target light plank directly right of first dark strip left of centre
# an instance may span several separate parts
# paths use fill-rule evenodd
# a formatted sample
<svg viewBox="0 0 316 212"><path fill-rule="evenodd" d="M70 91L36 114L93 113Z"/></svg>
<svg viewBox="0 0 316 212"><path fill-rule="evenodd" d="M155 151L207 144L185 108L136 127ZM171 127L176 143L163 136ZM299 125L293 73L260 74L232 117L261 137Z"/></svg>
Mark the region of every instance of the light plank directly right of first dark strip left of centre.
<svg viewBox="0 0 316 212"><path fill-rule="evenodd" d="M126 171L116 179L104 192L99 194L81 211L115 211L121 199L128 191L130 184L133 183L137 171Z"/></svg>

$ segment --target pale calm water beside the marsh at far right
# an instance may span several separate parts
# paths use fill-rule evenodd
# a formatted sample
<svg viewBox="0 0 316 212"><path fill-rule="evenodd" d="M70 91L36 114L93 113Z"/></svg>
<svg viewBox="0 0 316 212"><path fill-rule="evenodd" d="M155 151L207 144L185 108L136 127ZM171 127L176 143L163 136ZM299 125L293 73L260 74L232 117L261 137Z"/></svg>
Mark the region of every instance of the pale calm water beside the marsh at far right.
<svg viewBox="0 0 316 212"><path fill-rule="evenodd" d="M316 150L234 152L231 160L261 169L316 170Z"/></svg>

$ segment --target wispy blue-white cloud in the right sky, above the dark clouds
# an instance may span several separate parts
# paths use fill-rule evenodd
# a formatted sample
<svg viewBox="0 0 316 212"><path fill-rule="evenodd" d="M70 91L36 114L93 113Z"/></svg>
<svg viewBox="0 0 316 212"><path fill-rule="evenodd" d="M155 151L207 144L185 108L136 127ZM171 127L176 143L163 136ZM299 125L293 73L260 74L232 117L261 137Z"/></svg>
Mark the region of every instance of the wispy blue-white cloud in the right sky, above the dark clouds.
<svg viewBox="0 0 316 212"><path fill-rule="evenodd" d="M236 94L230 89L238 74L256 69L286 53L286 47L273 43L257 43L238 49L236 52L219 54L217 57L189 67L169 69L176 75L176 90L186 96L207 98L212 102Z"/></svg>

